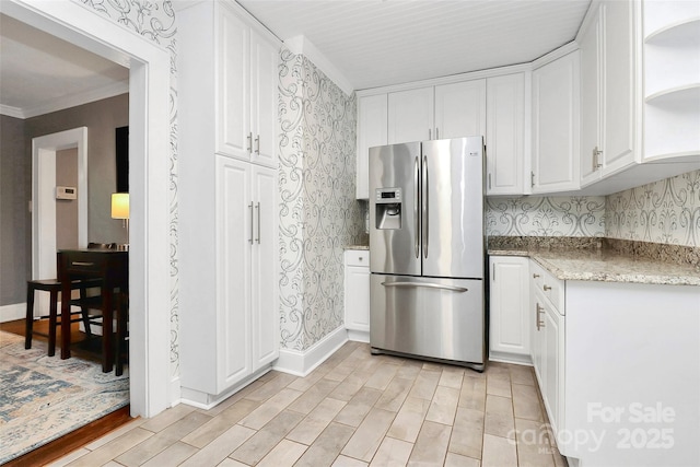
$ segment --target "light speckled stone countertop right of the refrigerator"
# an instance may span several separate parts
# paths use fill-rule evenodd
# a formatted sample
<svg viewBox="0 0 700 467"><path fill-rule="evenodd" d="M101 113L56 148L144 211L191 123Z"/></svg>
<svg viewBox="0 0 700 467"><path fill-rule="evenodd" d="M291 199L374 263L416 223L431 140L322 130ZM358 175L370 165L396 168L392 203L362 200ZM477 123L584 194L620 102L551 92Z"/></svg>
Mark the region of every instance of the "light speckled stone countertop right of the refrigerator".
<svg viewBox="0 0 700 467"><path fill-rule="evenodd" d="M528 256L560 280L700 285L700 269L606 249L489 249L490 256Z"/></svg>

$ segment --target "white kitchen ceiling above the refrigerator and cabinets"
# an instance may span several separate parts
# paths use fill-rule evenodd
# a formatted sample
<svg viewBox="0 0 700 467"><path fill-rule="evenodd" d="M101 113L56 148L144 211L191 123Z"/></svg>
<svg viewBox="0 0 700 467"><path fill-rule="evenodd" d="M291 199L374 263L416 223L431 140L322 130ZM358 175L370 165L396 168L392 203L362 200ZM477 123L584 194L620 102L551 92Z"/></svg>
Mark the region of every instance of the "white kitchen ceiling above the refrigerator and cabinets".
<svg viewBox="0 0 700 467"><path fill-rule="evenodd" d="M362 90L529 62L576 36L590 0L237 0L303 35Z"/></svg>

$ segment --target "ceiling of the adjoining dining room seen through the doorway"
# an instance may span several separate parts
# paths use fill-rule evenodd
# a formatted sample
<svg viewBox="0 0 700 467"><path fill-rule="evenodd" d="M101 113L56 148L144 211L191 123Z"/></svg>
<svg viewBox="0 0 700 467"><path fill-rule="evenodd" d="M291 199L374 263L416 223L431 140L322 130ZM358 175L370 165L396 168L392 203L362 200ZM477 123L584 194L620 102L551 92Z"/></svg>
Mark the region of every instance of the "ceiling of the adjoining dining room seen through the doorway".
<svg viewBox="0 0 700 467"><path fill-rule="evenodd" d="M122 94L128 80L128 68L0 14L2 114L28 118Z"/></svg>

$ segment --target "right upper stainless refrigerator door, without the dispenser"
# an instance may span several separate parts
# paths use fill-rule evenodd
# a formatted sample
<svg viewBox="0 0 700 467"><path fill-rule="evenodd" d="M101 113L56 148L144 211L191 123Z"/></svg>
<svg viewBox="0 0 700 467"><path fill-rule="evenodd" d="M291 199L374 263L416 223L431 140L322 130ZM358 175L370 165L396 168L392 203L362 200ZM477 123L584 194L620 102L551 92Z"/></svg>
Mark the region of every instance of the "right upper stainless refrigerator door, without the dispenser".
<svg viewBox="0 0 700 467"><path fill-rule="evenodd" d="M422 275L482 279L481 137L424 141L421 171Z"/></svg>

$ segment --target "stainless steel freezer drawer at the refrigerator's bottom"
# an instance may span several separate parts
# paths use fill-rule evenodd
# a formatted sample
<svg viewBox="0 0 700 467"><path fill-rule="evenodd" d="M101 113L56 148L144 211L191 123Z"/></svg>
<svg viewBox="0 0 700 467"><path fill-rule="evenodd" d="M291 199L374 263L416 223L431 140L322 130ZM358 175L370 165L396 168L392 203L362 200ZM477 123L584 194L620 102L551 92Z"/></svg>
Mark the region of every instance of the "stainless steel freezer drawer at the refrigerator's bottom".
<svg viewBox="0 0 700 467"><path fill-rule="evenodd" d="M485 363L481 280L371 275L370 346Z"/></svg>

